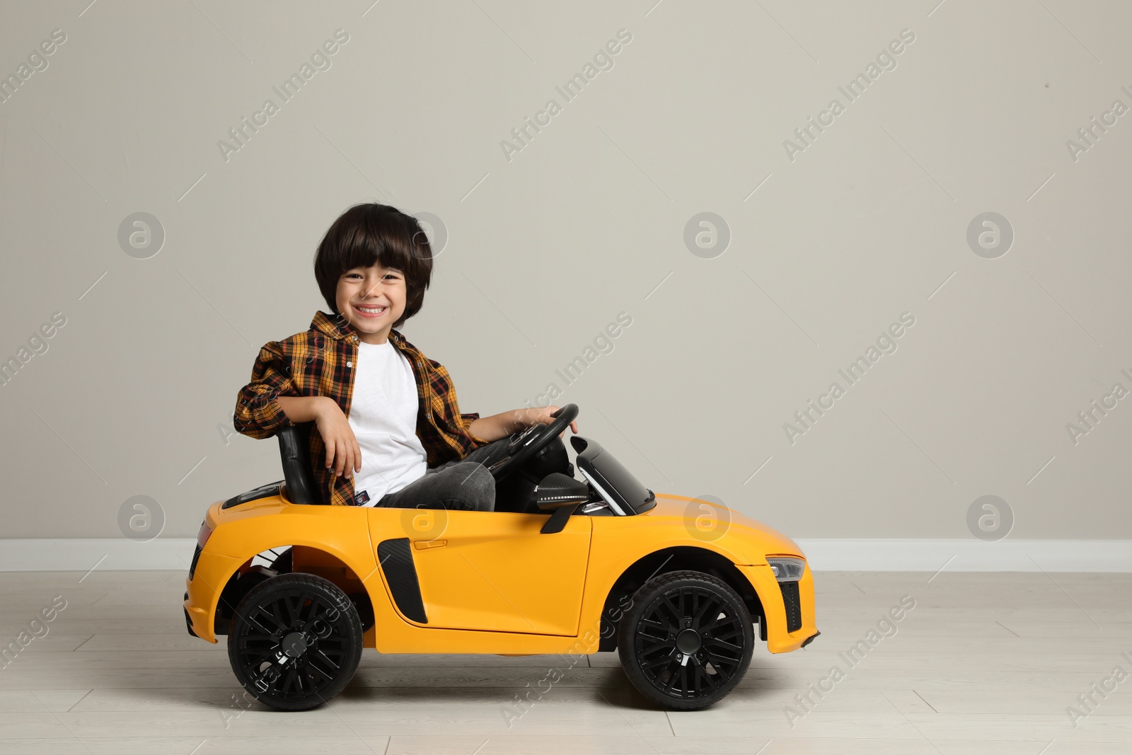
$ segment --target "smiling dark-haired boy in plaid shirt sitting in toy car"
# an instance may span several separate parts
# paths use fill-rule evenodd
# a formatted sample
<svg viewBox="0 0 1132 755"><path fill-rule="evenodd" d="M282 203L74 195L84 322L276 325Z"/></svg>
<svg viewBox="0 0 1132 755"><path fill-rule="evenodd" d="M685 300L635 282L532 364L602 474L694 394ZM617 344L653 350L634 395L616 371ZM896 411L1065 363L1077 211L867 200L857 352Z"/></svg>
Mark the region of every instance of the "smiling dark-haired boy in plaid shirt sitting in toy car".
<svg viewBox="0 0 1132 755"><path fill-rule="evenodd" d="M315 255L333 315L315 312L306 333L265 344L240 389L239 432L267 438L315 422L310 458L324 504L492 511L486 467L506 456L513 432L550 423L558 410L460 413L448 371L394 329L420 311L431 274L414 217L351 207Z"/></svg>

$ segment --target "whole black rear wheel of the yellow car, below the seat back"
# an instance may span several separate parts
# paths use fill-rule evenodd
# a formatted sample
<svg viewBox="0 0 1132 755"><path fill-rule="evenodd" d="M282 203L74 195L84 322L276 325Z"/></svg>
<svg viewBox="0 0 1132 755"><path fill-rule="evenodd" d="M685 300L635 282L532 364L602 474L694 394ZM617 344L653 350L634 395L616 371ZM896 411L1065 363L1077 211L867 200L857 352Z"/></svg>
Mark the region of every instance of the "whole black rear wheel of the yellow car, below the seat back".
<svg viewBox="0 0 1132 755"><path fill-rule="evenodd" d="M228 658L243 688L282 711L327 702L361 660L358 611L334 583L282 574L256 585L232 617Z"/></svg>

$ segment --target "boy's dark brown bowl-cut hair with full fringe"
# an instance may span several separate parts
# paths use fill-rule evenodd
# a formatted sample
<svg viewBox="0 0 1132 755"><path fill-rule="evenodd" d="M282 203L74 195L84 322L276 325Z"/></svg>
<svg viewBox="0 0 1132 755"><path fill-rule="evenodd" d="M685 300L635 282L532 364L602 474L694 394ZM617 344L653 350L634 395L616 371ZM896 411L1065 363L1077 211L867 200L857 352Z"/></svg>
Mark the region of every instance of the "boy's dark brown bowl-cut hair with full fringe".
<svg viewBox="0 0 1132 755"><path fill-rule="evenodd" d="M405 275L405 311L393 324L401 327L424 303L424 289L432 277L432 248L417 218L396 207L354 205L331 224L315 252L318 290L331 311L341 315L338 278L349 269L378 261Z"/></svg>

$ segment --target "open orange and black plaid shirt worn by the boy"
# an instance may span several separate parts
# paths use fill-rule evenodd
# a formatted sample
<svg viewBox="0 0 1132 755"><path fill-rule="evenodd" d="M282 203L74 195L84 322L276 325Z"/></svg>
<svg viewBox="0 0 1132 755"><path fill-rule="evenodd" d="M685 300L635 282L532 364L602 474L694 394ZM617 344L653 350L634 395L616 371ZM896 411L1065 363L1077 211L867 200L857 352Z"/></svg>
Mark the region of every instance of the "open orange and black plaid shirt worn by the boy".
<svg viewBox="0 0 1132 755"><path fill-rule="evenodd" d="M472 435L468 426L479 413L461 414L452 378L439 362L422 354L397 331L389 341L401 350L417 379L417 437L428 454L428 465L463 458L487 440ZM350 417L353 397L353 366L358 362L358 336L338 316L315 314L310 329L283 341L272 341L259 350L251 368L251 383L240 388L233 426L252 438L269 438L280 428L294 424L275 402L276 396L329 396ZM310 432L310 461L315 483L324 504L353 506L353 471L337 477L325 464L326 445L317 427Z"/></svg>

